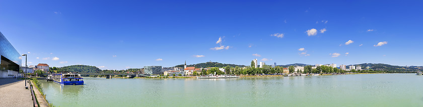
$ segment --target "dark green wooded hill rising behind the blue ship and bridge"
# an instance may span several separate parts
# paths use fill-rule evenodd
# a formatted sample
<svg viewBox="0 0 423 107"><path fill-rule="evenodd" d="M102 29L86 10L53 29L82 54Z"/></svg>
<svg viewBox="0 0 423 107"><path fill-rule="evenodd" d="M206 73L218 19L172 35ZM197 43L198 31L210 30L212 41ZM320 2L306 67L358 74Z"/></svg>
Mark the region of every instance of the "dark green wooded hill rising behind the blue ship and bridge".
<svg viewBox="0 0 423 107"><path fill-rule="evenodd" d="M61 72L100 73L102 70L89 65L70 65L57 68Z"/></svg>

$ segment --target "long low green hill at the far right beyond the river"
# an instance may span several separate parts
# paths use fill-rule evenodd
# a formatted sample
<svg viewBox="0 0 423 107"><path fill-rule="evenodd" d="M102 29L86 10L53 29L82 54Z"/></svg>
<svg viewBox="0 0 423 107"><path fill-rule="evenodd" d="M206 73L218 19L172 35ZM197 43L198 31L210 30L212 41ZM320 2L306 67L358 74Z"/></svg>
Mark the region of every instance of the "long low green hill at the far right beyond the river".
<svg viewBox="0 0 423 107"><path fill-rule="evenodd" d="M397 66L382 63L363 63L354 66L361 66L362 69L372 69L379 71L423 71L423 66Z"/></svg>

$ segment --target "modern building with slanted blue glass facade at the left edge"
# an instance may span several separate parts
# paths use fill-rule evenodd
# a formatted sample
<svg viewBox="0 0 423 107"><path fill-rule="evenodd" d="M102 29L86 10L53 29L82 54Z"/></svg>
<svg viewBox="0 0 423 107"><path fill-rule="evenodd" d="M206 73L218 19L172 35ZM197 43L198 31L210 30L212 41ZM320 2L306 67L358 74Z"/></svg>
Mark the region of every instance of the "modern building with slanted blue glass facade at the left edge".
<svg viewBox="0 0 423 107"><path fill-rule="evenodd" d="M0 77L10 77L11 73L8 71L19 72L20 65L22 64L22 56L18 51L10 44L6 37L0 32ZM7 76L9 75L9 76ZM13 75L12 75L13 76Z"/></svg>

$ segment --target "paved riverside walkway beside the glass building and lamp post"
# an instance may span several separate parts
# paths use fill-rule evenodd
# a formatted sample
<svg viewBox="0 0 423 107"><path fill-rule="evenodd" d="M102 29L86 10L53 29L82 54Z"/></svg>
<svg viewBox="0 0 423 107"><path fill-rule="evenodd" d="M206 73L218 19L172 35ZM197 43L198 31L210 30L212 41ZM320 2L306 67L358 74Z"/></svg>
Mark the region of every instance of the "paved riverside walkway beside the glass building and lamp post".
<svg viewBox="0 0 423 107"><path fill-rule="evenodd" d="M25 89L25 80L0 78L0 106L33 106L33 103L31 91Z"/></svg>

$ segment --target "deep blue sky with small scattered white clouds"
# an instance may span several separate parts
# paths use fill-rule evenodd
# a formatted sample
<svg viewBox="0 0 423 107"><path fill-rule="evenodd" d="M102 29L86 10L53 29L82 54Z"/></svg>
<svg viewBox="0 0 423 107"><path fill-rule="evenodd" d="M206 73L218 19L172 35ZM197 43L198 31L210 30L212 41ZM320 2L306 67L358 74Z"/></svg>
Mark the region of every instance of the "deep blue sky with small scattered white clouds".
<svg viewBox="0 0 423 107"><path fill-rule="evenodd" d="M29 65L119 70L171 67L185 60L249 65L257 58L278 65L421 66L421 5L423 1L6 0L0 1L0 32L19 53L28 54Z"/></svg>

